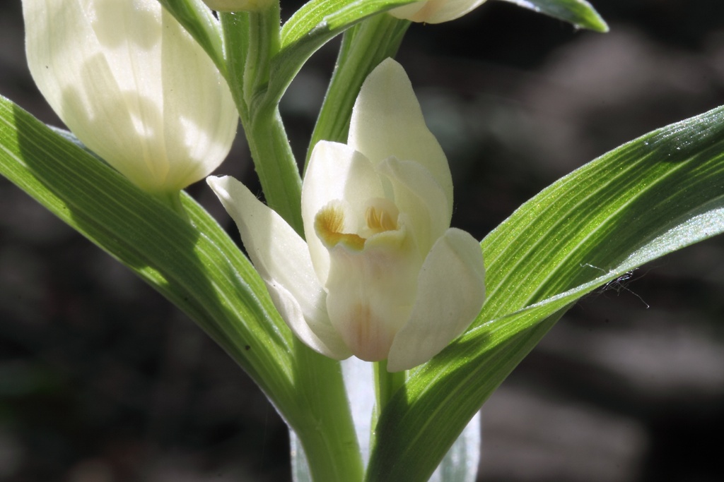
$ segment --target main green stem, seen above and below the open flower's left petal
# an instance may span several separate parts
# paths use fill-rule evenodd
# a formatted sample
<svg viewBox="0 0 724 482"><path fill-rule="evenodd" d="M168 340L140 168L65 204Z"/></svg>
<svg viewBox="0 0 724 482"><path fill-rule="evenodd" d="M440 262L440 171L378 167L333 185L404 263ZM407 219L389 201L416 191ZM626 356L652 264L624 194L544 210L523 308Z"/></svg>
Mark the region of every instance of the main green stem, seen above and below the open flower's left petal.
<svg viewBox="0 0 724 482"><path fill-rule="evenodd" d="M279 51L279 6L221 20L232 95L266 203L302 234L299 169L278 107L266 99ZM359 482L363 467L340 364L294 343L297 403L278 408L298 435L314 481Z"/></svg>

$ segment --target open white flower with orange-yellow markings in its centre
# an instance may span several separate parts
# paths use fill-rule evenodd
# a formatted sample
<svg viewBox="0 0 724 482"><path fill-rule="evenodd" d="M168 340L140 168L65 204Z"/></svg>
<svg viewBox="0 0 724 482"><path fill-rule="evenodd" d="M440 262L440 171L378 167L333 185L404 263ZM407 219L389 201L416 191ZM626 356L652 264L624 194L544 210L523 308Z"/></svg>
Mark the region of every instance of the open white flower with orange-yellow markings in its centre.
<svg viewBox="0 0 724 482"><path fill-rule="evenodd" d="M364 82L348 144L313 150L301 199L306 242L235 179L207 181L279 313L319 353L411 369L481 309L480 245L449 227L447 159L392 59Z"/></svg>

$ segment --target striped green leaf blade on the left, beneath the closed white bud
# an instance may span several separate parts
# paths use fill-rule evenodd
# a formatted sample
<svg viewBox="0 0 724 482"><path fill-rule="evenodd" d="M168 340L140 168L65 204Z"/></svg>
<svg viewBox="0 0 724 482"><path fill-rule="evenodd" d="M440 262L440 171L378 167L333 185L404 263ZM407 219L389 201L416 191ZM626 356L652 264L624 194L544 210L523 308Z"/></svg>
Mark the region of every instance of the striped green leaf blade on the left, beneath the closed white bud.
<svg viewBox="0 0 724 482"><path fill-rule="evenodd" d="M189 222L4 98L0 174L174 301L264 390L292 398L292 335L251 264L193 199L182 199Z"/></svg>

